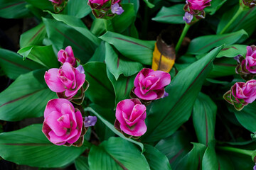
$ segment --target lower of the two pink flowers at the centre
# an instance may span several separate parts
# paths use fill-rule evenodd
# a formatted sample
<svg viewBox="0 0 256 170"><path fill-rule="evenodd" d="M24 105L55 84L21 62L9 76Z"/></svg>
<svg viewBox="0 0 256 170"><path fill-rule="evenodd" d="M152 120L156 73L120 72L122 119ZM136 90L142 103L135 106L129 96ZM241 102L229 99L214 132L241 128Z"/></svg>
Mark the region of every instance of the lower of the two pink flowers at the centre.
<svg viewBox="0 0 256 170"><path fill-rule="evenodd" d="M117 103L115 128L128 135L139 137L146 132L146 106L132 98Z"/></svg>

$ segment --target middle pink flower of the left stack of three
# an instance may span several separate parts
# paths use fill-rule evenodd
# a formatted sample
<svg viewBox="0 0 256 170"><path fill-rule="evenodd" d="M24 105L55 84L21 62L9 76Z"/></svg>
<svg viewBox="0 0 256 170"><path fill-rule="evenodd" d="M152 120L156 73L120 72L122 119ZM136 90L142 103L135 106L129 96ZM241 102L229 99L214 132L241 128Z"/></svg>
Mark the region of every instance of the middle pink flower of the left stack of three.
<svg viewBox="0 0 256 170"><path fill-rule="evenodd" d="M68 62L60 69L49 69L44 77L51 91L63 93L67 99L75 96L85 82L85 74L80 73Z"/></svg>

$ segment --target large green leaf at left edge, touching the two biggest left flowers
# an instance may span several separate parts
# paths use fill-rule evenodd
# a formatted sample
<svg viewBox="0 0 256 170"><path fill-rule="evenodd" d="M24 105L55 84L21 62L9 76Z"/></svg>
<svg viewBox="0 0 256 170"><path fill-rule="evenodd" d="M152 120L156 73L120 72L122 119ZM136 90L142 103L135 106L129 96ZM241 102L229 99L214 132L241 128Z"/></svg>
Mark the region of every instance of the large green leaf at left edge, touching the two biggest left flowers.
<svg viewBox="0 0 256 170"><path fill-rule="evenodd" d="M0 94L0 120L18 121L43 116L46 103L56 94L43 79L45 70L22 74Z"/></svg>

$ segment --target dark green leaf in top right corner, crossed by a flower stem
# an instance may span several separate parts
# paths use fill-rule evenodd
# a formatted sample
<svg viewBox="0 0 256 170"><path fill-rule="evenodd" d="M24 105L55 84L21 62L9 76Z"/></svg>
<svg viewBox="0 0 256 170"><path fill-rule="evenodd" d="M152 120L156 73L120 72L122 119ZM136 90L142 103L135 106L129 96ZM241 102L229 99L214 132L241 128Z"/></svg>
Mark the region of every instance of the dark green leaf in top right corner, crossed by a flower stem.
<svg viewBox="0 0 256 170"><path fill-rule="evenodd" d="M239 4L237 3L230 11L223 14L220 19L220 23L218 24L217 33L220 33L221 30L225 27L225 25L230 21L230 19L235 15L236 11L238 11ZM225 31L225 33L232 33L238 30L245 30L248 35L252 35L256 28L256 8L250 8L250 10L245 10L240 13L238 18L230 25L230 27Z"/></svg>

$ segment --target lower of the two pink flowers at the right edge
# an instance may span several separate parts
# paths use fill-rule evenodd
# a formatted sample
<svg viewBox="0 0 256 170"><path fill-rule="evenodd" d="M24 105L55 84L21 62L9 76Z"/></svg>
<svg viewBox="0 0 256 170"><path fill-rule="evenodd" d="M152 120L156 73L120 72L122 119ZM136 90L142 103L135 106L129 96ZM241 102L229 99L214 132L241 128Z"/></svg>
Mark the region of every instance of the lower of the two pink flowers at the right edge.
<svg viewBox="0 0 256 170"><path fill-rule="evenodd" d="M247 105L256 99L256 80L252 79L246 83L237 82L231 88L231 93L238 103Z"/></svg>

